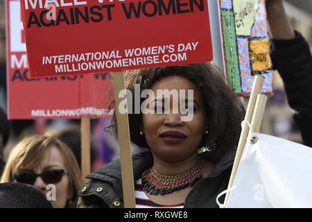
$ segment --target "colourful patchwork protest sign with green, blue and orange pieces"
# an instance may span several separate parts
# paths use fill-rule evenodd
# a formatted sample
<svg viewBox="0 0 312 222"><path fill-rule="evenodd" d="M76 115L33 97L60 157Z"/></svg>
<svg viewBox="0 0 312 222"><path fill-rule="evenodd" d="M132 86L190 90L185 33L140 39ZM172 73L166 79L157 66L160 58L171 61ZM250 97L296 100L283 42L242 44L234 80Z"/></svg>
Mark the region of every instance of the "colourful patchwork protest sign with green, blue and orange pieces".
<svg viewBox="0 0 312 222"><path fill-rule="evenodd" d="M219 0L225 72L239 96L249 96L254 76L265 77L263 94L272 95L272 62L265 0Z"/></svg>

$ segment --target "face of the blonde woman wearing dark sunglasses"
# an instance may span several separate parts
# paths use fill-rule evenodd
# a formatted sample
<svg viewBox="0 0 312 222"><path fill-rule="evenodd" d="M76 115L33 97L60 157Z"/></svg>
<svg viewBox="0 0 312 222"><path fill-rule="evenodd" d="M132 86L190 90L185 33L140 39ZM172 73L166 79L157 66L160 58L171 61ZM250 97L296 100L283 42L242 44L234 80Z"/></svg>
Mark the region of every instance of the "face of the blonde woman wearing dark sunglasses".
<svg viewBox="0 0 312 222"><path fill-rule="evenodd" d="M55 169L67 170L65 166L65 160L59 148L51 146L45 151L39 166L35 167L35 169L27 170L32 170L39 174L44 171L53 171ZM67 200L71 198L71 194L69 192L69 177L67 174L64 173L60 182L54 184L55 187L53 187L53 185L47 187L47 185L48 184L46 184L40 176L37 177L35 183L33 184L34 187L37 187L44 194L46 194L48 200L51 200L53 207L64 208L67 204Z"/></svg>

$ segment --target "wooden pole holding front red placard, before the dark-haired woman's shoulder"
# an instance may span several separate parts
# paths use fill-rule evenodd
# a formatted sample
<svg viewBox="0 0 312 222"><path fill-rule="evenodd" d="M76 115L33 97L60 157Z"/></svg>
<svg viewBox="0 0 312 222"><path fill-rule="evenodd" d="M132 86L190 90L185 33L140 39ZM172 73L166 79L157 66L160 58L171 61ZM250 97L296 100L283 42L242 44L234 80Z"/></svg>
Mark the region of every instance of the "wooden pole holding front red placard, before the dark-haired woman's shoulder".
<svg viewBox="0 0 312 222"><path fill-rule="evenodd" d="M119 98L119 92L125 90L125 78L122 71L113 73L115 109L119 139L119 150L121 160L121 179L123 186L123 201L125 208L135 208L135 181L133 178L131 144L128 112L121 114L119 103L123 98ZM127 105L128 108L128 105Z"/></svg>

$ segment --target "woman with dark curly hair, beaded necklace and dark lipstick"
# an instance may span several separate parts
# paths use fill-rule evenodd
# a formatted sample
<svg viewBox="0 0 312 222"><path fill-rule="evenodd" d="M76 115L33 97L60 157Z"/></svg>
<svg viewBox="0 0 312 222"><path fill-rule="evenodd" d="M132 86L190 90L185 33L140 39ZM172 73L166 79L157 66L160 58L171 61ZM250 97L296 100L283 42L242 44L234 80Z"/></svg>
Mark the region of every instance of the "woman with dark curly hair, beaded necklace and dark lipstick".
<svg viewBox="0 0 312 222"><path fill-rule="evenodd" d="M216 196L227 189L244 117L223 74L200 63L127 71L125 79L132 95L136 84L137 94L150 89L156 95L146 100L154 113L128 114L132 142L150 149L133 156L137 207L218 207ZM167 89L191 90L193 96L157 94ZM145 100L137 99L141 108ZM166 101L185 108L173 112L173 103ZM182 121L187 114L192 118ZM123 206L119 166L117 160L87 176L79 207Z"/></svg>

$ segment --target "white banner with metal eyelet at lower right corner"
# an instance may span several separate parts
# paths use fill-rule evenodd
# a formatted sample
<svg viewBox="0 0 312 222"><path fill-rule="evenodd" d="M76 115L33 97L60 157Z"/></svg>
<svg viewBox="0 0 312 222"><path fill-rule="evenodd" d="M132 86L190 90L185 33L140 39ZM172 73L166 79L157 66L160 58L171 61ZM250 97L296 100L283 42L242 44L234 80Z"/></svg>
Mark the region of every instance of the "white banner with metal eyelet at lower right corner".
<svg viewBox="0 0 312 222"><path fill-rule="evenodd" d="M311 190L312 148L254 133L226 207L312 207Z"/></svg>

